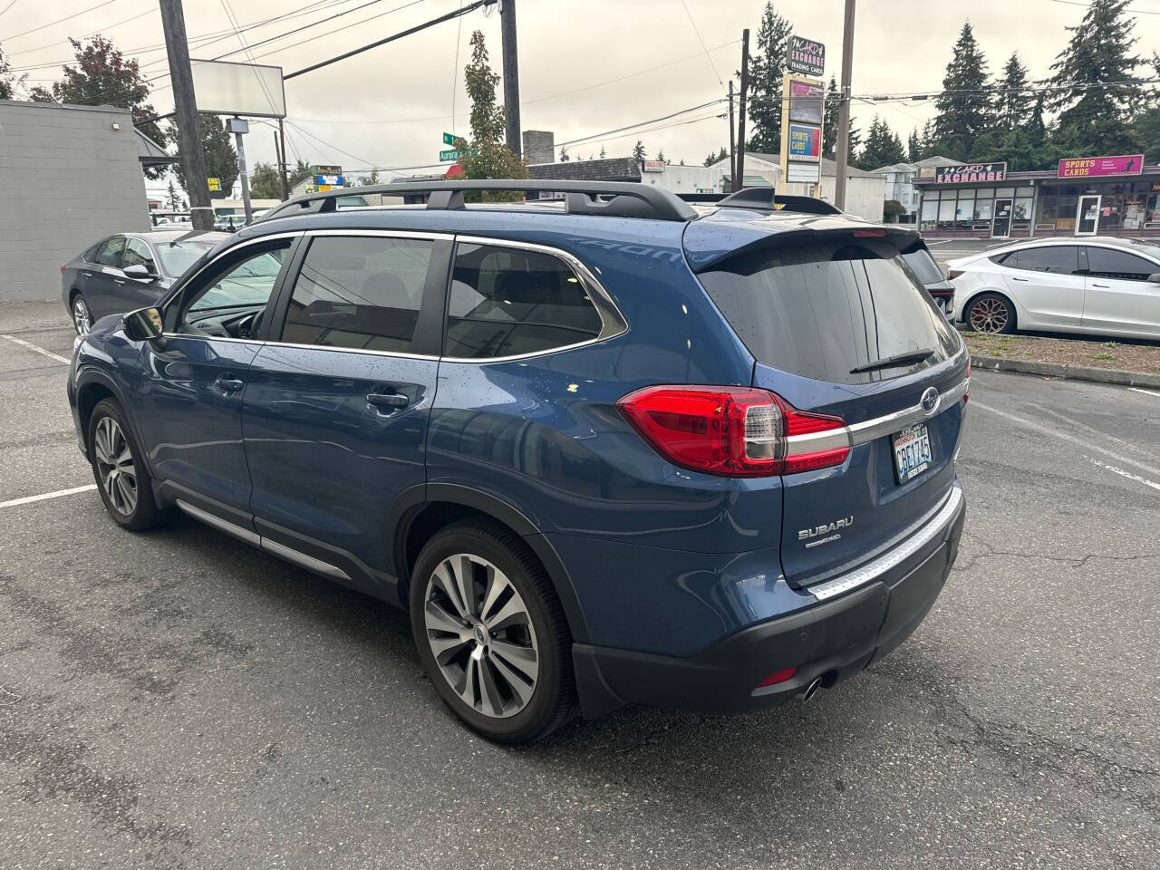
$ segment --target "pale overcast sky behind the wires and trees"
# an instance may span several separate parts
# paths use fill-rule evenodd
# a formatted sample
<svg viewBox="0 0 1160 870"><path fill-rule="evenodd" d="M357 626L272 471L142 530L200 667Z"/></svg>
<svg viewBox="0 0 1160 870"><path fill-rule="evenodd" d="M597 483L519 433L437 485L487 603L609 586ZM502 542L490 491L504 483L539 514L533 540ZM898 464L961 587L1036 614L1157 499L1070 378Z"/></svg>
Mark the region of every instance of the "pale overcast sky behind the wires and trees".
<svg viewBox="0 0 1160 870"><path fill-rule="evenodd" d="M764 0L684 1L688 14L681 0L519 0L523 128L552 130L557 143L561 143L666 116L723 96L728 77L739 67L742 28L751 29L755 48ZM186 27L191 55L212 58L240 48L234 35L211 44L198 44L204 42L198 39L202 35L232 29L227 6L242 27L274 16L290 16L307 6L318 7L310 14L283 17L244 32L246 42L253 44L312 21L325 21L253 50L259 63L280 65L285 72L459 6L458 0L413 0L409 3L407 0L380 0L340 15L367 2L187 0ZM0 0L0 8L6 5L6 0ZM107 0L99 8L82 13L96 5L97 0L16 0L0 15L0 45L14 66L24 67L68 58L71 51L65 42L68 36L103 32L126 55L138 57L146 75L155 77L158 90L153 100L157 108L172 109L171 92L166 88L165 51L159 48L164 37L157 0ZM826 78L838 75L842 0L776 0L775 7L792 21L796 32L826 44ZM1032 77L1045 75L1066 43L1065 27L1081 20L1082 7L1079 0L973 0L970 3L858 0L854 93L937 89L954 41L967 15L992 73L1001 68L1012 51L1018 50ZM1147 56L1160 46L1160 0L1136 0L1132 8L1138 13L1137 50ZM61 23L14 36L66 16ZM365 23L326 35L363 21ZM499 72L500 22L492 7L486 14L477 10L458 21L438 24L287 82L288 122L292 123L288 137L290 160L300 155L307 162L341 164L347 169L409 167L435 161L437 152L444 147L441 145L444 130L467 131L463 66L470 52L467 39L476 29L486 35L493 67ZM238 52L227 59L245 60L246 56ZM31 70L28 74L30 84L46 84L59 75L59 70ZM719 111L724 109L710 107L653 126L674 121L695 119L696 123L600 137L574 145L570 152L573 159L587 158L599 154L603 145L608 155L623 155L640 138L650 157L664 148L665 155L674 162L684 159L699 164L709 151L728 142L726 122L712 117ZM856 123L863 130L876 113L905 139L912 128L921 126L933 116L934 106L930 101L855 103ZM251 130L246 144L251 160L271 160L270 128L253 124ZM311 135L333 147L311 139Z"/></svg>

